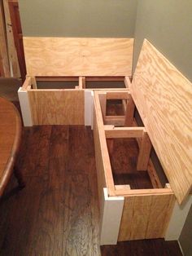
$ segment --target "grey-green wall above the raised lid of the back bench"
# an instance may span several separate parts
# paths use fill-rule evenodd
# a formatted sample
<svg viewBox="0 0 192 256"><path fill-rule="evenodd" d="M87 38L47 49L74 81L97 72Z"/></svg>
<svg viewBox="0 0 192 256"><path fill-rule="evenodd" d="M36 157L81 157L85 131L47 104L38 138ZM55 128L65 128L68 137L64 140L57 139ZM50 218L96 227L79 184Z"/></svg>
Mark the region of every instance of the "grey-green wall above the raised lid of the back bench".
<svg viewBox="0 0 192 256"><path fill-rule="evenodd" d="M24 36L133 38L137 0L19 0Z"/></svg>

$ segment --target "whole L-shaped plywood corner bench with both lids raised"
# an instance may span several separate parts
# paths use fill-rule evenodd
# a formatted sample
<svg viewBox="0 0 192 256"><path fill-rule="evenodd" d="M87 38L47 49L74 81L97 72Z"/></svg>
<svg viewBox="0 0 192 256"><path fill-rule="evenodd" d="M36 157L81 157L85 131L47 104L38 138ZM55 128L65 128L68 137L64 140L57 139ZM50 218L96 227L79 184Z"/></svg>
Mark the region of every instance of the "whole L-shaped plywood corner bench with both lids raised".
<svg viewBox="0 0 192 256"><path fill-rule="evenodd" d="M147 40L132 82L132 38L24 38L24 51L24 125L94 129L101 245L177 240L192 202L191 83Z"/></svg>

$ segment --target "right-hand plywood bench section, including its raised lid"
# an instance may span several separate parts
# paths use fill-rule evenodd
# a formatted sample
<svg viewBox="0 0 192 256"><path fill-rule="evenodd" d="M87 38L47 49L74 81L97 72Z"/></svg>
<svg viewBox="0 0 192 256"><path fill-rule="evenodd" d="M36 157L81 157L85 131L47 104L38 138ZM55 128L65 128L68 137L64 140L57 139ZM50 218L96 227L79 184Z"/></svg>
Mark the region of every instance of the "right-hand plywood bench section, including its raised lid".
<svg viewBox="0 0 192 256"><path fill-rule="evenodd" d="M127 90L94 92L101 245L159 237L177 240L192 201L191 83L147 41L143 43L133 82L129 82L129 77L126 80ZM110 99L122 101L123 116L107 115ZM135 108L143 126L137 126ZM134 170L126 170L125 174L134 179L138 172L148 173L152 188L132 188L130 179L127 180L131 184L126 180L119 183L118 166L111 165L118 150L115 141L124 139L127 143L127 139L133 138L139 148L137 162ZM168 183L161 181L162 174L155 170L151 147ZM127 157L133 158L130 152L127 150ZM116 161L121 165L120 174L124 174L121 157Z"/></svg>

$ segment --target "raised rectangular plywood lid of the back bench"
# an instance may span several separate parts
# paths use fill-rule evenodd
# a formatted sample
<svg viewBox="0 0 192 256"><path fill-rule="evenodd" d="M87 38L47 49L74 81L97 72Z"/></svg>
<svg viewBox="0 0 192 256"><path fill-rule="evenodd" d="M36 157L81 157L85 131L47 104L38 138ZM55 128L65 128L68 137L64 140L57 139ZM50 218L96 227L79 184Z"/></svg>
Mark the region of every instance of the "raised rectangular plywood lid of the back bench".
<svg viewBox="0 0 192 256"><path fill-rule="evenodd" d="M29 76L130 76L133 38L24 38Z"/></svg>

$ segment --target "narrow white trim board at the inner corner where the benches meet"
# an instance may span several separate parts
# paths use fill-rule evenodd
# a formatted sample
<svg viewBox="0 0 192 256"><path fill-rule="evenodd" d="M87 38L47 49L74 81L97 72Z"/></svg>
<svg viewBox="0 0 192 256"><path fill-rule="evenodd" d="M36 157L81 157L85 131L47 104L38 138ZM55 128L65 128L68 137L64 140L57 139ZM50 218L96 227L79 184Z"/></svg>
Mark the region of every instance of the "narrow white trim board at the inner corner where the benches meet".
<svg viewBox="0 0 192 256"><path fill-rule="evenodd" d="M93 91L85 90L85 126L93 126Z"/></svg>

